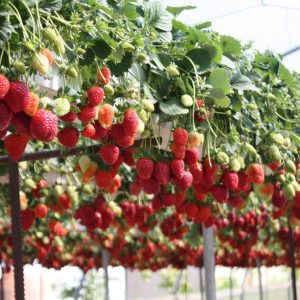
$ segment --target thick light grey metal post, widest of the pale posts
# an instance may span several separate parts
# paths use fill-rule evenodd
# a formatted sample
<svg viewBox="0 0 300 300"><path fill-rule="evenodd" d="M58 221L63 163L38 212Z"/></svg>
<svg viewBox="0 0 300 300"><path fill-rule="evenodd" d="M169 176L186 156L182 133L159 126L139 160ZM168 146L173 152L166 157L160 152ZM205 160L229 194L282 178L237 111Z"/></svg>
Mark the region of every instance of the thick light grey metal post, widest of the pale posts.
<svg viewBox="0 0 300 300"><path fill-rule="evenodd" d="M206 300L216 300L216 278L215 278L215 252L213 228L202 226L204 239L204 269L205 269L205 294Z"/></svg>

